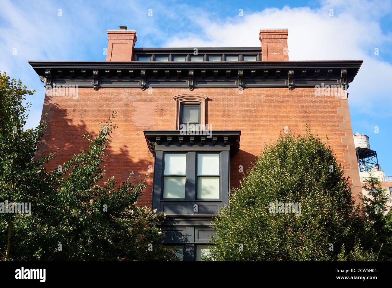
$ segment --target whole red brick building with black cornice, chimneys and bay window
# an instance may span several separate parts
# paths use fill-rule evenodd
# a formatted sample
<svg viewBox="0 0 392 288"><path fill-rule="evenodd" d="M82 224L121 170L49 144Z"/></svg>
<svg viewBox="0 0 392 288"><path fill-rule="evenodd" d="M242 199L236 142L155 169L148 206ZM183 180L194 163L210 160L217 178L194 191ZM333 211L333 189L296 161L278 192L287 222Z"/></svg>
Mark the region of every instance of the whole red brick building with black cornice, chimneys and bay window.
<svg viewBox="0 0 392 288"><path fill-rule="evenodd" d="M168 214L165 243L185 261L207 252L230 187L287 129L327 135L359 200L346 88L362 61L289 61L286 29L260 30L259 47L241 48L135 48L136 31L107 34L106 61L29 62L47 88L73 92L45 96L39 153L59 148L57 167L116 110L106 176L151 175L138 204Z"/></svg>

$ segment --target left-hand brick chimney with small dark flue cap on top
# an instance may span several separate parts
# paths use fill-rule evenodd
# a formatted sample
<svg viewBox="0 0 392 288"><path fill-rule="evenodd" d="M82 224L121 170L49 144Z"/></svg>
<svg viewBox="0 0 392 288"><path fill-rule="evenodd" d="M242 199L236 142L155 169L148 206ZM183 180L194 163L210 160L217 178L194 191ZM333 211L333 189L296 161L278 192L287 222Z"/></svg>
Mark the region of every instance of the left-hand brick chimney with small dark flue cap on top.
<svg viewBox="0 0 392 288"><path fill-rule="evenodd" d="M136 31L120 26L119 30L107 31L106 61L132 61Z"/></svg>

